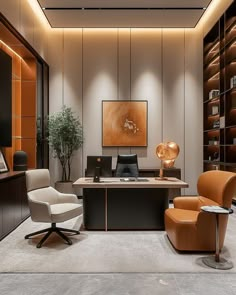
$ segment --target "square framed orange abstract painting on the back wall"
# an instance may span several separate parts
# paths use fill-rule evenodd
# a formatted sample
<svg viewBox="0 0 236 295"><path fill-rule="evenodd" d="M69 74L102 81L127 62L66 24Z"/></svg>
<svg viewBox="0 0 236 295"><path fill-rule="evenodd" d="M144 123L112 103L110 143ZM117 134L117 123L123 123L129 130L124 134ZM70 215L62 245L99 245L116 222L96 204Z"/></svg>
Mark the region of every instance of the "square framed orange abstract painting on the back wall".
<svg viewBox="0 0 236 295"><path fill-rule="evenodd" d="M102 146L147 147L147 100L102 101Z"/></svg>

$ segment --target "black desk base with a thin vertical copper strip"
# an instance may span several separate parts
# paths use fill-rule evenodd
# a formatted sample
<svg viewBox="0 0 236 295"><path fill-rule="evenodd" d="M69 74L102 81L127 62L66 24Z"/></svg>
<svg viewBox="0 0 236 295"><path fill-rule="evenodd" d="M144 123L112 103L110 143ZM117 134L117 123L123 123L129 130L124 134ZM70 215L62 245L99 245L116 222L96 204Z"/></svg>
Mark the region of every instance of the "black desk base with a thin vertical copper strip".
<svg viewBox="0 0 236 295"><path fill-rule="evenodd" d="M167 188L85 188L87 230L163 230Z"/></svg>

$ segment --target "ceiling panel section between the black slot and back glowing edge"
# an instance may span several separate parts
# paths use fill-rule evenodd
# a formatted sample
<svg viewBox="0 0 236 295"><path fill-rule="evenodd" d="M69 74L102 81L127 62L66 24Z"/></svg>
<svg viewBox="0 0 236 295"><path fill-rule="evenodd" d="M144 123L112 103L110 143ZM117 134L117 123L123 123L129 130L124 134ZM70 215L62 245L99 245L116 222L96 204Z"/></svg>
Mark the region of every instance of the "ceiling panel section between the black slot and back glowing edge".
<svg viewBox="0 0 236 295"><path fill-rule="evenodd" d="M46 11L54 28L193 28L203 11L73 10Z"/></svg>

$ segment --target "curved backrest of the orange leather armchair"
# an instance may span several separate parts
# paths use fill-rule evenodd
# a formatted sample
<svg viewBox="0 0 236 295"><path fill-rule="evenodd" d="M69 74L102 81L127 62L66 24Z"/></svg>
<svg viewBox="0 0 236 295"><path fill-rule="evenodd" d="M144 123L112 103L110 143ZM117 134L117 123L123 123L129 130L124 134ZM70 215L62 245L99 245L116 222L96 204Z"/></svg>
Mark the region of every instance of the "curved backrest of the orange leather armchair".
<svg viewBox="0 0 236 295"><path fill-rule="evenodd" d="M198 178L198 194L224 207L231 207L235 188L236 173L233 172L211 170L203 172Z"/></svg>

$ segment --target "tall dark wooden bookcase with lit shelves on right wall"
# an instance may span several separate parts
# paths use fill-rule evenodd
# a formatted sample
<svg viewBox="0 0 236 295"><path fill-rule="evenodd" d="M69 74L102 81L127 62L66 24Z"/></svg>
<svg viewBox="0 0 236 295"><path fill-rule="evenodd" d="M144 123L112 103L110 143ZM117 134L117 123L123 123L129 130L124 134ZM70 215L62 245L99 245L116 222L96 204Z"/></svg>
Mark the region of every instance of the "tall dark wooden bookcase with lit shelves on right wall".
<svg viewBox="0 0 236 295"><path fill-rule="evenodd" d="M203 59L204 171L236 173L236 1L204 38Z"/></svg>

